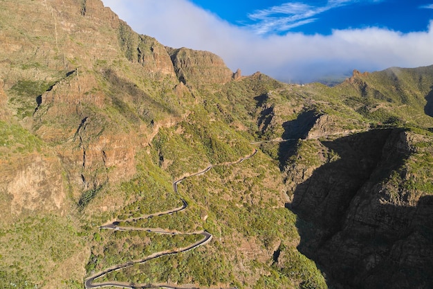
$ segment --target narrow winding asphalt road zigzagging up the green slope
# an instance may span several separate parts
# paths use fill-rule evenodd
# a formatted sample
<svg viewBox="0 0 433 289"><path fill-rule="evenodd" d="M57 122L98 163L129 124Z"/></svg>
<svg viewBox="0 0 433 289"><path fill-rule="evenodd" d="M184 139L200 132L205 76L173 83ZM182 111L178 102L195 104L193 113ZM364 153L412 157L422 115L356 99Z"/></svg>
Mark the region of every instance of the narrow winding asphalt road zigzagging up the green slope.
<svg viewBox="0 0 433 289"><path fill-rule="evenodd" d="M232 161L232 162L225 162L222 164L214 164L214 165L210 165L207 168L205 168L204 170L201 170L197 173L192 173L192 174L187 174L187 175L183 175L183 177L181 177L180 179L177 179L176 181L173 182L173 191L174 193L178 194L179 198L181 198L183 204L181 207L177 207L168 211L161 211L161 212L157 212L157 213L151 213L149 215L144 215L138 218L129 218L127 219L128 221L131 220L139 220L139 219L145 219L145 218L152 218L154 216L164 216L164 215L171 215L173 213L177 213L179 211L183 211L185 209L187 209L188 204L187 202L182 198L181 194L178 193L178 184L180 182L182 182L184 179L186 179L187 177L194 177L197 175L203 175L205 173L208 173L209 170L211 170L212 168L214 168L215 166L229 166L232 164L239 164L242 161L246 160L246 159L250 159L251 157L254 157L255 154L257 154L257 150L255 149L254 152L252 152L251 155L248 155L246 157L242 157L241 159L238 159L237 161ZM161 252L156 252L154 254L151 254L149 256L147 256L145 259L140 259L140 260L132 260L132 261L128 261L127 263L122 263L122 264L118 264L118 265L114 265L110 268L105 269L104 271L98 272L96 274L93 274L91 277L87 278L86 281L84 281L84 286L86 287L86 289L90 289L90 288L101 288L101 287L118 287L118 288L169 288L169 289L198 289L195 286L173 286L173 285L169 285L169 284L135 284L135 283L126 283L126 282L116 282L116 281L108 281L108 282L100 282L100 283L95 283L95 279L98 279L102 276L104 276L105 274L108 274L109 272L113 272L113 271L118 271L118 270L122 270L128 267L133 266L134 264L137 263L145 263L147 261L150 261L152 259L156 259L159 258L161 256L167 256L167 255L171 255L171 254L178 254L181 252L187 252L190 251L191 249L194 249L196 247L199 247L201 245L205 245L207 243L210 242L210 240L212 240L212 234L210 234L208 231L195 231L195 232L190 232L190 233L185 233L185 232L181 232L181 231L168 231L168 230L164 230L164 229L152 229L152 228L137 228L137 227L120 227L119 223L122 220L118 220L116 222L111 222L107 225L103 225L100 227L100 229L113 229L113 230L119 230L119 231L149 231L155 234L179 234L179 235L202 235L203 238L201 240L196 241L196 243L192 243L190 245L188 245L187 247L181 247L181 248L174 248L174 249L169 249L169 250L165 250L165 251L161 251ZM219 287L214 287L219 288ZM222 288L220 288L222 289ZM226 289L237 289L236 287L232 287L232 288L226 288Z"/></svg>

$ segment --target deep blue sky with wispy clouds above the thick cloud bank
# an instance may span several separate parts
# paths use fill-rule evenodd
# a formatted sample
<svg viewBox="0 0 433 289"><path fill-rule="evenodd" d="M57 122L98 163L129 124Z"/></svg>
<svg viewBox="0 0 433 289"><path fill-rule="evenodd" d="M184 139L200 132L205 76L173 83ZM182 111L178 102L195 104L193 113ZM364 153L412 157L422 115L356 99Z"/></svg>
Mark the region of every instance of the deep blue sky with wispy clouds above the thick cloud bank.
<svg viewBox="0 0 433 289"><path fill-rule="evenodd" d="M416 0L192 0L231 24L252 28L262 35L300 32L330 35L332 30L389 28L403 33L427 30L433 19L433 1ZM429 5L431 8L428 9Z"/></svg>

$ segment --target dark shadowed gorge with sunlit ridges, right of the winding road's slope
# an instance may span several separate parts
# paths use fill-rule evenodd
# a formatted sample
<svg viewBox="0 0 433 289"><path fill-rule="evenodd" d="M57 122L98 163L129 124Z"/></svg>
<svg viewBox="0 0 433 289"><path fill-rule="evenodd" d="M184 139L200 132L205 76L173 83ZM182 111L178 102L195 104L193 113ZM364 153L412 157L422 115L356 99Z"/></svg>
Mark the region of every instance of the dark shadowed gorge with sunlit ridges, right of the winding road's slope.
<svg viewBox="0 0 433 289"><path fill-rule="evenodd" d="M431 69L354 71L336 87L257 96L259 135L278 143L261 149L282 169L298 248L332 287L432 283Z"/></svg>

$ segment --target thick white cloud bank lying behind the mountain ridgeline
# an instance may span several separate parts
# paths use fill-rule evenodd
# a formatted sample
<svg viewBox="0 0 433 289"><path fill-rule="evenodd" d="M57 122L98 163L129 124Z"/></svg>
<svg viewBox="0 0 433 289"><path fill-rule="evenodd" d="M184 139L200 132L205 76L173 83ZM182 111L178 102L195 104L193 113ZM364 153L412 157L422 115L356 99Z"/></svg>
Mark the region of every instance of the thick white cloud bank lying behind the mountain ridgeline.
<svg viewBox="0 0 433 289"><path fill-rule="evenodd" d="M308 82L353 69L375 71L433 64L433 21L425 31L414 33L370 27L333 30L326 36L264 36L255 33L255 29L229 24L187 0L103 2L136 32L155 37L166 46L211 51L221 56L232 71L239 68L244 75L261 71L278 80ZM349 1L330 2L344 5ZM266 19L266 13L270 15L272 9L256 11L253 16ZM305 11L305 7L297 9ZM311 21L317 13L293 23Z"/></svg>

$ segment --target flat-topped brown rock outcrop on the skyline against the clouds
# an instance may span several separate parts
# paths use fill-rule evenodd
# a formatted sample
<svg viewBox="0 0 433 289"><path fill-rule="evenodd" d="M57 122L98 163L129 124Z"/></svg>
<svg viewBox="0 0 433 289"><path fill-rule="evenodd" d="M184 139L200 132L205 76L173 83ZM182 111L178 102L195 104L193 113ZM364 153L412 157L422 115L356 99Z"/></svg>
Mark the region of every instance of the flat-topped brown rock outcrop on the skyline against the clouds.
<svg viewBox="0 0 433 289"><path fill-rule="evenodd" d="M232 80L232 71L214 53L186 48L167 50L178 79L185 85L223 84Z"/></svg>

